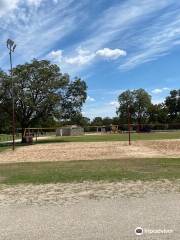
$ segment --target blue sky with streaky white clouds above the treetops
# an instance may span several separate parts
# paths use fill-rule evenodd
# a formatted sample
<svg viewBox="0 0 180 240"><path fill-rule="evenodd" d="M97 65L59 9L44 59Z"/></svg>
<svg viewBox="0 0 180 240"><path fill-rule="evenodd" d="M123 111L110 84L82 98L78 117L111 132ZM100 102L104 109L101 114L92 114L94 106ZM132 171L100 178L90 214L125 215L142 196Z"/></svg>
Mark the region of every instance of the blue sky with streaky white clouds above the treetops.
<svg viewBox="0 0 180 240"><path fill-rule="evenodd" d="M179 88L180 1L0 0L0 68L50 59L88 84L83 114L115 116L117 96L144 88L154 103Z"/></svg>

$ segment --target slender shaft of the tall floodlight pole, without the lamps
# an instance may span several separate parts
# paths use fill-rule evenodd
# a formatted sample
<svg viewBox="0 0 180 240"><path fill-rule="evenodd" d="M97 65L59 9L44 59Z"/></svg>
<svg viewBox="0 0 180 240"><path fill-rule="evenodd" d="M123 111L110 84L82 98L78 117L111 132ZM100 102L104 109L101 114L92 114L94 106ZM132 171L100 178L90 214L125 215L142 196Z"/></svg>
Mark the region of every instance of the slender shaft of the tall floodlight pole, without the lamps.
<svg viewBox="0 0 180 240"><path fill-rule="evenodd" d="M10 67L11 67L11 83L12 83L12 121L13 121L13 129L12 129L12 137L13 137L13 144L12 149L15 150L15 109L14 109L14 81L13 81L13 67L12 67L12 48L10 47L9 51L10 56Z"/></svg>

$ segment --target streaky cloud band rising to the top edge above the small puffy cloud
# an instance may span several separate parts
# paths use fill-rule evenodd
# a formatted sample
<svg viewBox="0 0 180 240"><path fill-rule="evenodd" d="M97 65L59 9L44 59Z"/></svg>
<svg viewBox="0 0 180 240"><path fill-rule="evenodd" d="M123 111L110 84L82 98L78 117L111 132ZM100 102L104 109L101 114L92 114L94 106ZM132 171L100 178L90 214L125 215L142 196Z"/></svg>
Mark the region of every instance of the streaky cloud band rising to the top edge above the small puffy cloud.
<svg viewBox="0 0 180 240"><path fill-rule="evenodd" d="M81 42L81 45L91 50L97 50L119 36L121 37L117 43L122 45L126 41L127 45L133 41L133 30L136 24L168 7L172 2L174 1L127 0L124 3L115 4L102 12L99 19L92 22L92 34L88 36L87 40Z"/></svg>

